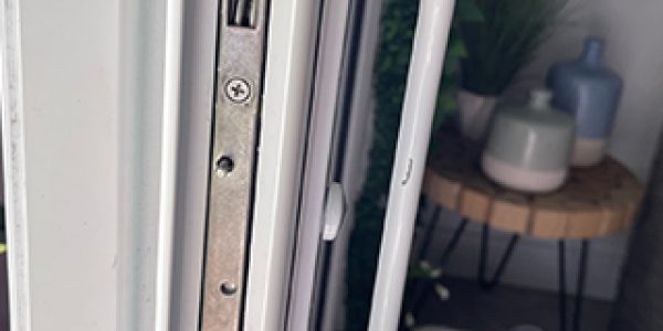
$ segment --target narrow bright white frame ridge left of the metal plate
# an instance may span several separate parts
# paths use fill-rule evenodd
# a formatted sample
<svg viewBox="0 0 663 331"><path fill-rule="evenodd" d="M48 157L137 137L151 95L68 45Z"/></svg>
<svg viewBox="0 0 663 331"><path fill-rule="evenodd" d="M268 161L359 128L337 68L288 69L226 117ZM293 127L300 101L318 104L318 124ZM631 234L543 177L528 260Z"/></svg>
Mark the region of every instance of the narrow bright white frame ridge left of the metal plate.
<svg viewBox="0 0 663 331"><path fill-rule="evenodd" d="M168 0L166 8L166 58L164 64L164 128L159 188L159 238L155 329L168 331L172 276L172 244L177 202L177 156L182 52L183 0Z"/></svg>

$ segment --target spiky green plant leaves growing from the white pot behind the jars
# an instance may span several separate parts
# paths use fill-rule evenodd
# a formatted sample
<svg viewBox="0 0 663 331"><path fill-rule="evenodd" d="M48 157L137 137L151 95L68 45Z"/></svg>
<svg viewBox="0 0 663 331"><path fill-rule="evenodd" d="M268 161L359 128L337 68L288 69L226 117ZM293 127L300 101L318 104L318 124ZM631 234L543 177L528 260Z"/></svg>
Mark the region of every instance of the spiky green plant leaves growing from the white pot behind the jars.
<svg viewBox="0 0 663 331"><path fill-rule="evenodd" d="M467 54L461 64L463 88L499 95L549 35L566 0L475 0L481 22L463 22L459 32Z"/></svg>

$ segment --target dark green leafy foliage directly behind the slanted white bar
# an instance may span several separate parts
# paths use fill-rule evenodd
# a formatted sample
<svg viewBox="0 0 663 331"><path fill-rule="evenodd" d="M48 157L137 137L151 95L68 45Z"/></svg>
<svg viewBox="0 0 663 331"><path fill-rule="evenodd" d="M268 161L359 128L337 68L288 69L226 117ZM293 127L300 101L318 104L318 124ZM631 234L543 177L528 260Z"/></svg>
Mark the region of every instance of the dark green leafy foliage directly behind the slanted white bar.
<svg viewBox="0 0 663 331"><path fill-rule="evenodd" d="M473 1L457 0L433 132L455 108L452 88L456 85L459 61L466 53L456 30L460 22L481 20ZM377 102L373 140L366 184L355 205L355 228L348 253L346 330L349 331L364 331L368 324L418 4L414 0L386 0L383 4L373 79Z"/></svg>

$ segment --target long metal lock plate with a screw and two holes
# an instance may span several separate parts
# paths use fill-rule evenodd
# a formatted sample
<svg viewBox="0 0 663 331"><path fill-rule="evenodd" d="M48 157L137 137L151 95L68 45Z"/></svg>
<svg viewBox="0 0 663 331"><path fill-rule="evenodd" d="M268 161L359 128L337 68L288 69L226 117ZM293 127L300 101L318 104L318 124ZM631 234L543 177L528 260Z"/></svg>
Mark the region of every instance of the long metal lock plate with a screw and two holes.
<svg viewBox="0 0 663 331"><path fill-rule="evenodd" d="M242 328L266 0L221 1L201 330Z"/></svg>

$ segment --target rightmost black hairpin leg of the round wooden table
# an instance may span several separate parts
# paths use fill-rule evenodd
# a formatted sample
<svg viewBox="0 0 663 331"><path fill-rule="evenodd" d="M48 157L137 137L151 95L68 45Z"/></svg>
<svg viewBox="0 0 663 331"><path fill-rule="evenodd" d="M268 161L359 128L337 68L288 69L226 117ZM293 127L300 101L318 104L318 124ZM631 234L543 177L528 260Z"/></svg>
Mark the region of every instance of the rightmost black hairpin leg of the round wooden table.
<svg viewBox="0 0 663 331"><path fill-rule="evenodd" d="M585 298L585 279L587 278L587 255L589 241L583 239L580 246L580 259L578 261L578 279L573 306L572 330L579 331L582 322L582 299ZM565 241L559 241L559 330L567 330L567 295L566 295L566 261Z"/></svg>

